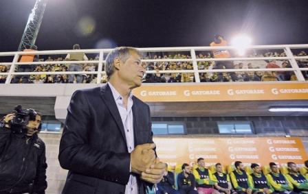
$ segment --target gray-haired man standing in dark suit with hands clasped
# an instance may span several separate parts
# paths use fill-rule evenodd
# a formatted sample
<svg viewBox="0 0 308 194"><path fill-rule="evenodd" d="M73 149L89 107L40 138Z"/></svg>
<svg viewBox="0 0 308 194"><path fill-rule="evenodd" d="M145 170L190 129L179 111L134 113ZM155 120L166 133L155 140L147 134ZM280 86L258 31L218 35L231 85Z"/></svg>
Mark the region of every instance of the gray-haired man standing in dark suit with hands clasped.
<svg viewBox="0 0 308 194"><path fill-rule="evenodd" d="M106 58L109 82L72 95L58 157L69 170L64 194L144 194L162 180L150 109L131 93L144 72L136 49L118 47Z"/></svg>

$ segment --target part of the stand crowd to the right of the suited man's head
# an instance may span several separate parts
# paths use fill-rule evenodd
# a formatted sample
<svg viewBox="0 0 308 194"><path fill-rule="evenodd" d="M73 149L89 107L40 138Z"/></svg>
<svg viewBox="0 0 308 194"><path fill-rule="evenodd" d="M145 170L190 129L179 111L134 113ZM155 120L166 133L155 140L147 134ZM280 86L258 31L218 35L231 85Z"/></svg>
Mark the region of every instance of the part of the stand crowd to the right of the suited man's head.
<svg viewBox="0 0 308 194"><path fill-rule="evenodd" d="M298 56L307 56L305 51L300 52ZM285 53L267 52L265 54L254 54L248 57L285 57ZM175 56L153 56L146 59L188 59L190 56L175 55ZM198 58L212 58L210 53L199 53ZM268 60L266 66L256 66L253 62L244 64L243 62L229 62L229 66L217 66L215 62L198 61L197 67L199 70L204 69L260 69L260 68L291 68L288 60L284 60L281 65L276 64L276 60ZM308 60L298 61L300 67L308 67ZM194 73L159 73L164 70L193 70L192 62L149 62L147 70L154 70L157 73L148 74L145 83L153 82L195 82ZM303 71L303 75L308 80L308 72ZM261 82L261 81L295 81L296 75L293 71L238 71L238 72L223 72L223 73L200 73L200 82Z"/></svg>

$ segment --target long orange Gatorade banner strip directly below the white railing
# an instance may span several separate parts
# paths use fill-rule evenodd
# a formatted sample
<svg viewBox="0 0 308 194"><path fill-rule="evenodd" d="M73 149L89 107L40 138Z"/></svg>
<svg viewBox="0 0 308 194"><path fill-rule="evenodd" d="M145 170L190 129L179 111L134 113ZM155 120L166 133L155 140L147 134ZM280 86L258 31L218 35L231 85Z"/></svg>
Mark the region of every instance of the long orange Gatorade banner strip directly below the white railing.
<svg viewBox="0 0 308 194"><path fill-rule="evenodd" d="M135 88L142 101L248 101L308 99L308 83L152 85Z"/></svg>

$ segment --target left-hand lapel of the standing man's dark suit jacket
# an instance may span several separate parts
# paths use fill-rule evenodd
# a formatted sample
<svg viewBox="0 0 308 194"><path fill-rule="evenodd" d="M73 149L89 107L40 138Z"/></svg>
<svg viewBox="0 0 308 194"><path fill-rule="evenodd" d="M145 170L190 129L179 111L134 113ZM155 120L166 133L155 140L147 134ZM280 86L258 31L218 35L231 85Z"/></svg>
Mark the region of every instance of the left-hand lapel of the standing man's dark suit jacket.
<svg viewBox="0 0 308 194"><path fill-rule="evenodd" d="M124 132L124 126L123 126L123 123L122 123L120 112L118 110L117 105L115 104L115 100L113 98L111 88L109 87L108 84L106 84L106 85L104 85L100 88L100 97L102 97L104 104L109 109L109 112L111 113L111 116L113 117L115 123L117 123L118 129L120 130L120 132L122 134L122 138L123 138L125 144L127 145L125 132ZM134 121L134 123L135 123L135 121Z"/></svg>

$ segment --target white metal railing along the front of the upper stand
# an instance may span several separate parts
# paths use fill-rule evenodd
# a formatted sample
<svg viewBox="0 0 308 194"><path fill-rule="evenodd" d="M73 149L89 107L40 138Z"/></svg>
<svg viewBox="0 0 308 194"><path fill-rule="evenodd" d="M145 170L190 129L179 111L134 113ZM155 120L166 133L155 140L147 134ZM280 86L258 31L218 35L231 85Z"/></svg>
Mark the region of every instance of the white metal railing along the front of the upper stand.
<svg viewBox="0 0 308 194"><path fill-rule="evenodd" d="M247 49L254 50L269 50L281 49L285 52L285 57L236 57L236 58L197 58L196 52L213 51L213 50L236 50L236 47L159 47L159 48L139 48L142 53L157 53L157 52L189 52L191 58L164 58L164 59L143 59L142 62L191 62L192 70L164 70L164 71L146 71L146 73L194 73L195 82L200 82L199 73L215 73L215 72L247 72L247 71L293 71L299 82L307 82L301 71L308 71L308 68L300 68L296 60L308 60L308 56L294 56L292 49L307 49L308 45L254 45L247 47ZM55 51L16 51L16 52L2 52L1 56L14 56L12 62L0 62L0 65L10 66L7 73L0 73L6 75L5 84L10 84L12 75L69 75L69 74L95 74L97 75L96 84L100 84L103 71L103 64L106 62L104 54L107 54L112 49L80 49L80 50L55 50ZM44 62L19 62L19 57L23 55L66 55L67 53L86 53L96 54L98 60L90 61L44 61ZM287 60L291 64L291 68L267 69L267 68L253 68L253 69L198 69L197 62L219 62L219 61L247 61L247 60ZM27 64L98 64L97 71L41 71L41 72L16 72L15 69L19 65Z"/></svg>

